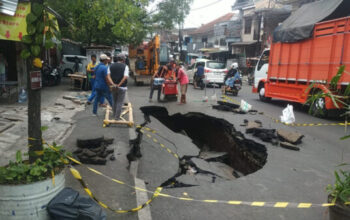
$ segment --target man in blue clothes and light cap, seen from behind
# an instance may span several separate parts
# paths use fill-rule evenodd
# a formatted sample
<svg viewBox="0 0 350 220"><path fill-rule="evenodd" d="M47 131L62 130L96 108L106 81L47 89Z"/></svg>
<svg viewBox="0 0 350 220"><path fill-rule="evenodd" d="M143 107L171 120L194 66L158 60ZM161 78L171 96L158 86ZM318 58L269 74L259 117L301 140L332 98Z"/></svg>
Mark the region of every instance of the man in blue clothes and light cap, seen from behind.
<svg viewBox="0 0 350 220"><path fill-rule="evenodd" d="M108 56L106 54L101 54L100 63L95 68L95 90L96 90L96 98L94 101L94 106L92 113L97 115L97 107L98 101L101 100L102 97L105 97L109 104L112 106L113 101L111 94L109 92L109 85L114 86L110 75L108 74L107 64L109 62Z"/></svg>

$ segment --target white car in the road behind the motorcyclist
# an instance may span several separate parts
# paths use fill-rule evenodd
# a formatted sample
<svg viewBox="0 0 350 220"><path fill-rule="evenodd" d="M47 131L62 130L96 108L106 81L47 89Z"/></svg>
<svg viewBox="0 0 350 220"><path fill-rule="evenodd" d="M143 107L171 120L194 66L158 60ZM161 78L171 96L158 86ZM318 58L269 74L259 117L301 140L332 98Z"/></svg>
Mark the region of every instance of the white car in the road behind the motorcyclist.
<svg viewBox="0 0 350 220"><path fill-rule="evenodd" d="M208 81L209 84L215 83L222 85L224 83L225 75L228 72L226 64L207 59L197 59L193 65L188 67L187 74L190 83L193 83L194 74L197 71L198 64L201 64L204 67L205 80Z"/></svg>

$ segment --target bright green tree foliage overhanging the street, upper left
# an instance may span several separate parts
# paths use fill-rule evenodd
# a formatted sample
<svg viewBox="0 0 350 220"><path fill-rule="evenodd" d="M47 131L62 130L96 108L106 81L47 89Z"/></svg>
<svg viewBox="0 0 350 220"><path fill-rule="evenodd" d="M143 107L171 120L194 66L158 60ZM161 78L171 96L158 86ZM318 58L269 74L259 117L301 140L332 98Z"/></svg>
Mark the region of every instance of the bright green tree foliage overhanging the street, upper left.
<svg viewBox="0 0 350 220"><path fill-rule="evenodd" d="M147 34L149 0L48 0L70 25L62 36L88 45L139 43Z"/></svg>

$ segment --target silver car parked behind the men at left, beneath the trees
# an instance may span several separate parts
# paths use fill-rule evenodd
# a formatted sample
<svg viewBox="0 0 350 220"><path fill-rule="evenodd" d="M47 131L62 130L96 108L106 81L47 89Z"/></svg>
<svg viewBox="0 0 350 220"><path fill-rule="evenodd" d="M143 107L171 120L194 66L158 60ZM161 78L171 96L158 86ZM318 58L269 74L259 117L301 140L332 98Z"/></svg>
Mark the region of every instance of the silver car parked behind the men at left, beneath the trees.
<svg viewBox="0 0 350 220"><path fill-rule="evenodd" d="M63 55L61 63L58 69L61 71L63 76L67 76L68 74L72 74L75 72L75 63L76 59L79 60L79 68L77 72L86 72L87 67L87 57L86 56L78 56L78 55Z"/></svg>

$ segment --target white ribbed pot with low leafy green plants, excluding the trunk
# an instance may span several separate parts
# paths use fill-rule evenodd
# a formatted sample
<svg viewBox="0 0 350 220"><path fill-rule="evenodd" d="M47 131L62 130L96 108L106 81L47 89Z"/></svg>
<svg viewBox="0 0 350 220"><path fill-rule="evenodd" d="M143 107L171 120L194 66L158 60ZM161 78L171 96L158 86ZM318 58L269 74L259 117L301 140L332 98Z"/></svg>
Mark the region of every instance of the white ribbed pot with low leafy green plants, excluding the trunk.
<svg viewBox="0 0 350 220"><path fill-rule="evenodd" d="M46 206L64 187L68 161L55 144L40 154L30 163L17 151L14 162L0 167L0 219L49 219Z"/></svg>

